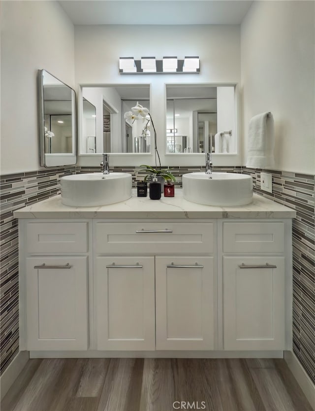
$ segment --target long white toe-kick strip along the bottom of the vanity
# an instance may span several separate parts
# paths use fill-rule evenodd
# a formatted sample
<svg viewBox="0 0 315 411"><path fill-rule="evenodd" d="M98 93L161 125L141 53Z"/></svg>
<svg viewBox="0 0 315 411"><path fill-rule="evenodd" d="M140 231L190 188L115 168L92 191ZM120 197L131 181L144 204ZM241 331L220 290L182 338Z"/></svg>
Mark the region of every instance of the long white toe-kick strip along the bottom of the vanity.
<svg viewBox="0 0 315 411"><path fill-rule="evenodd" d="M30 351L30 358L283 358L283 351Z"/></svg>

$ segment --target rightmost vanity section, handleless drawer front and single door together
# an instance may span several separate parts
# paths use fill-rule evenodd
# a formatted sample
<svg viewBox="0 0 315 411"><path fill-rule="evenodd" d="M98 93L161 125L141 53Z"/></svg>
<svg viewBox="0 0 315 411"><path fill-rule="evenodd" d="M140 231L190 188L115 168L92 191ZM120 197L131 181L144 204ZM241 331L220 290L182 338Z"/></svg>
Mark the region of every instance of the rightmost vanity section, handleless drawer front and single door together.
<svg viewBox="0 0 315 411"><path fill-rule="evenodd" d="M222 231L224 349L285 349L284 222L225 221Z"/></svg>

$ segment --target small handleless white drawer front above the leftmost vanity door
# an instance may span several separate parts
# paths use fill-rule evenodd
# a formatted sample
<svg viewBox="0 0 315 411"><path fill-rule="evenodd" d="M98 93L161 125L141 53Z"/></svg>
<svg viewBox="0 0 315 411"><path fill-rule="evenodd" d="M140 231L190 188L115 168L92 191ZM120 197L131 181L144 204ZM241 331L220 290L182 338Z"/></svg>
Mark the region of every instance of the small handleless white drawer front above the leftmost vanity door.
<svg viewBox="0 0 315 411"><path fill-rule="evenodd" d="M88 223L28 223L28 253L85 253L88 251Z"/></svg>

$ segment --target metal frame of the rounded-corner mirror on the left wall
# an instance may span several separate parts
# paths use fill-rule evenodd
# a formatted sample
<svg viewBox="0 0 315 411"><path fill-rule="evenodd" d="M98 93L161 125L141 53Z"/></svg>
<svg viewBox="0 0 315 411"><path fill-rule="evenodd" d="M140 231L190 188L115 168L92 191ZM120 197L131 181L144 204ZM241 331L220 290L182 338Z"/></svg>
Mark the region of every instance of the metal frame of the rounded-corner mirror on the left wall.
<svg viewBox="0 0 315 411"><path fill-rule="evenodd" d="M72 116L72 153L45 153L45 130L44 130L44 72L55 77L58 81L63 83L59 78L51 74L45 69L38 70L37 73L37 92L38 92L38 135L39 135L39 161L40 166L50 168L58 166L72 166L77 163L77 102L76 93L74 89L63 83L74 93L74 101L71 102L71 116Z"/></svg>

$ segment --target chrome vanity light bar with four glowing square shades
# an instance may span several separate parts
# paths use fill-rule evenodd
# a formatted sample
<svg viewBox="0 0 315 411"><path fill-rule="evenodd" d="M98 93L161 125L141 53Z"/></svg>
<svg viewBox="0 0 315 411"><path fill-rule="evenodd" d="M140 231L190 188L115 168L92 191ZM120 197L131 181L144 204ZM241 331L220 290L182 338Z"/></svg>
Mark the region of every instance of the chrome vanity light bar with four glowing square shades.
<svg viewBox="0 0 315 411"><path fill-rule="evenodd" d="M186 56L184 60L179 60L177 57L163 57L162 60L156 60L155 57L141 57L141 60L120 57L119 72L120 74L199 74L200 60L198 56Z"/></svg>

